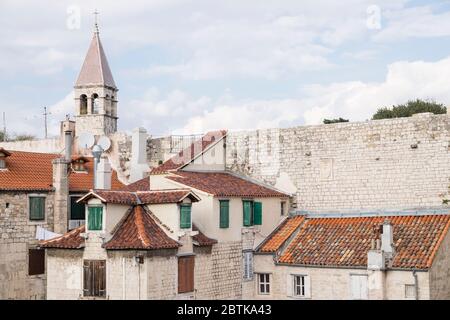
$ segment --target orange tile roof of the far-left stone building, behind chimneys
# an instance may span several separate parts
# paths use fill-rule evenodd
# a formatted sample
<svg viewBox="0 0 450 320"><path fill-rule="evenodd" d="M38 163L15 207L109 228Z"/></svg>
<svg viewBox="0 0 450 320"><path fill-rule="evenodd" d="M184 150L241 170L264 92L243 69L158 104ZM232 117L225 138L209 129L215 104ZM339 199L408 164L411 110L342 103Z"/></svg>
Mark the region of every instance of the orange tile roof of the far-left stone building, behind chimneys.
<svg viewBox="0 0 450 320"><path fill-rule="evenodd" d="M0 190L51 191L53 190L52 161L59 154L10 151L6 158L6 169L0 170ZM69 190L86 192L93 187L93 161L85 164L87 172L69 171ZM112 188L122 189L124 185L113 170Z"/></svg>

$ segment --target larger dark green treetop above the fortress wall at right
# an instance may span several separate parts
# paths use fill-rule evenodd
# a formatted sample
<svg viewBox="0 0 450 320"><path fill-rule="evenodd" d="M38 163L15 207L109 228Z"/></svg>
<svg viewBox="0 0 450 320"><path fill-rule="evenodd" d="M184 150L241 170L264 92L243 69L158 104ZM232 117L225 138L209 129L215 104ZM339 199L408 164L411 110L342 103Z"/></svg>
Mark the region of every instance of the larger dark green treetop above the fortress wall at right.
<svg viewBox="0 0 450 320"><path fill-rule="evenodd" d="M447 108L442 103L435 101L424 101L420 99L410 100L406 104L399 104L389 107L382 107L373 115L373 120L410 117L416 113L431 112L442 114L447 112Z"/></svg>

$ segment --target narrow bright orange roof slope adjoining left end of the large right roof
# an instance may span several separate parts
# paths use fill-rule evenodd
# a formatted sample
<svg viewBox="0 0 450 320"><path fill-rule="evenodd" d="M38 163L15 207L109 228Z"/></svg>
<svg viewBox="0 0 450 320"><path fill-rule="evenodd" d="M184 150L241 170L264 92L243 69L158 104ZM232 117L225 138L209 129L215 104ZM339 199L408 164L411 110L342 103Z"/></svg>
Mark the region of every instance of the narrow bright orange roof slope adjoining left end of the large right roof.
<svg viewBox="0 0 450 320"><path fill-rule="evenodd" d="M276 252L305 221L304 216L294 216L285 219L257 248L259 252Z"/></svg>

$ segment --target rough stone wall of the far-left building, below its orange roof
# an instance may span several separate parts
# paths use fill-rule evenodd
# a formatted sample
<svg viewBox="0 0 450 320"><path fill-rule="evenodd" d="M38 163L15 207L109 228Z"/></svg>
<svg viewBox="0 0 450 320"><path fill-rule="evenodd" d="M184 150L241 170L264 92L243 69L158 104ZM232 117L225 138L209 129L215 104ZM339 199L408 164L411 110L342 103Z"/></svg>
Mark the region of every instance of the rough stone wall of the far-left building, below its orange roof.
<svg viewBox="0 0 450 320"><path fill-rule="evenodd" d="M45 220L30 221L28 194L0 192L0 299L44 299L45 275L28 275L28 249L36 227L53 231L53 194L46 194Z"/></svg>

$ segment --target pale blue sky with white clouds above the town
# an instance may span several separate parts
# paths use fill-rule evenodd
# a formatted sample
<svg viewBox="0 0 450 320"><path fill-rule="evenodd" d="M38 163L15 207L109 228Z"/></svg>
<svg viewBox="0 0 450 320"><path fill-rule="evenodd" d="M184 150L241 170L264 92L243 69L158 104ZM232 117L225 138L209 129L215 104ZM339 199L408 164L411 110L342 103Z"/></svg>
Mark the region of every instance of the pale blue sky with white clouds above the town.
<svg viewBox="0 0 450 320"><path fill-rule="evenodd" d="M0 0L0 120L44 136L73 116L97 9L118 127L153 136L365 121L450 105L450 1Z"/></svg>

